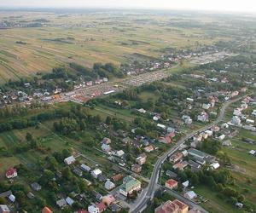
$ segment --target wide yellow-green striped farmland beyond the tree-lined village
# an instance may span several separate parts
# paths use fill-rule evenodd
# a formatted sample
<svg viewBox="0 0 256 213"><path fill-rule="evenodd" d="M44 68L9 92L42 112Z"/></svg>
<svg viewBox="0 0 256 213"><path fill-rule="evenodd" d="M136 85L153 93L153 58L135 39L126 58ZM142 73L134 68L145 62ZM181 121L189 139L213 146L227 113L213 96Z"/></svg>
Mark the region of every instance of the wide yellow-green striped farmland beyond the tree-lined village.
<svg viewBox="0 0 256 213"><path fill-rule="evenodd" d="M205 30L213 18L203 17L201 31L184 27L170 14L134 13L25 13L15 16L0 14L0 21L33 23L47 20L41 27L0 30L0 83L12 79L49 72L67 62L92 66L94 62L113 62L116 65L131 59L160 58L160 50L170 48L196 49L212 44L222 37L218 32ZM190 21L199 21L190 17ZM17 43L18 42L18 43ZM21 42L21 43L19 43Z"/></svg>

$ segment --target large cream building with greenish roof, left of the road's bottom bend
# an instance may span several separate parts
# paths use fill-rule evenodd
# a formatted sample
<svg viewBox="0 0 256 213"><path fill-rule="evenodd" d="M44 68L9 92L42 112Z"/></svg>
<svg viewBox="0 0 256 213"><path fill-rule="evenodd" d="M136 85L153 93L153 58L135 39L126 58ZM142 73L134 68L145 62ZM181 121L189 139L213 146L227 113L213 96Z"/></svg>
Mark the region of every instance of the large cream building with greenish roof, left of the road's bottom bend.
<svg viewBox="0 0 256 213"><path fill-rule="evenodd" d="M141 190L142 183L132 176L126 176L123 180L123 185L119 187L119 193L127 197L134 191Z"/></svg>

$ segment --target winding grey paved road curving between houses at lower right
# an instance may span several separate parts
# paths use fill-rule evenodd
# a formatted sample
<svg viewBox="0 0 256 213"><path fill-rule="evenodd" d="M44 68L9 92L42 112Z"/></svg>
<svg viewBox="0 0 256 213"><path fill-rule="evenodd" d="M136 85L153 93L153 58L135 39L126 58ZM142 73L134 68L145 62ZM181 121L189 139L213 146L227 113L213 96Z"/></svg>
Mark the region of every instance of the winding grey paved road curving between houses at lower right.
<svg viewBox="0 0 256 213"><path fill-rule="evenodd" d="M183 143L185 141L187 141L189 138L191 138L192 136L196 135L197 133L199 133L201 131L210 129L212 126L221 122L224 118L224 114L225 114L227 107L229 107L232 103L241 100L245 96L247 96L247 95L241 96L239 98L236 98L234 100L227 101L226 103L224 103L223 107L221 108L220 112L218 113L218 118L214 122L212 122L212 124L208 124L207 126L201 128L200 130L195 130L195 131L189 133L188 135L183 136L183 138L181 138L179 141L177 141L177 143L175 144L174 147L172 147L169 151L167 151L166 153L161 155L160 158L158 158L158 160L154 164L154 170L152 172L148 187L144 189L143 194L137 199L136 204L132 206L132 208L130 209L130 213L143 212L143 210L145 210L147 208L148 200L151 200L154 198L155 185L158 184L161 165L166 161L166 158L170 157L173 153L175 153L178 150L178 148L181 145L183 145Z"/></svg>

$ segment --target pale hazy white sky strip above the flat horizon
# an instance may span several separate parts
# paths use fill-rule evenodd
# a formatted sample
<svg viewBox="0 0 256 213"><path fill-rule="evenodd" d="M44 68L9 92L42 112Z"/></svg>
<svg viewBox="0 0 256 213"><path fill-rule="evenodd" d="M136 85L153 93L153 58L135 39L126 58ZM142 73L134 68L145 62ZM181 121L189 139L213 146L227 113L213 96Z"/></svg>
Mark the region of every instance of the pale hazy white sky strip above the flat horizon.
<svg viewBox="0 0 256 213"><path fill-rule="evenodd" d="M101 7L256 12L256 0L0 0L0 7Z"/></svg>

